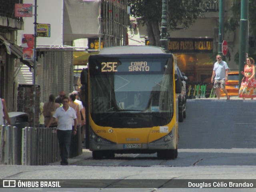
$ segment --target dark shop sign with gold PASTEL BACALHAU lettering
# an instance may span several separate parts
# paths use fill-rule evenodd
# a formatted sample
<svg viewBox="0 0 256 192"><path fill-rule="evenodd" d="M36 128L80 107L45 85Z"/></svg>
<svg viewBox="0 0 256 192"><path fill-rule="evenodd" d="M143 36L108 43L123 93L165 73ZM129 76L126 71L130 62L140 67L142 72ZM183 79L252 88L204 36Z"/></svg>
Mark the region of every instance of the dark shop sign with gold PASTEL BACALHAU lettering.
<svg viewBox="0 0 256 192"><path fill-rule="evenodd" d="M212 53L213 38L169 38L171 53Z"/></svg>

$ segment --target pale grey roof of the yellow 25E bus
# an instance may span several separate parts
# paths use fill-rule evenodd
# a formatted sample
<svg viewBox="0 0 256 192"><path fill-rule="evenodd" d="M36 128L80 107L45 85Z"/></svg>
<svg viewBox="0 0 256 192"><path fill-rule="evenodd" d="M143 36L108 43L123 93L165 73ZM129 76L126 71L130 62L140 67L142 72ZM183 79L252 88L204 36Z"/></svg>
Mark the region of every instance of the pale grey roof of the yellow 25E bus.
<svg viewBox="0 0 256 192"><path fill-rule="evenodd" d="M106 47L100 50L100 55L108 54L165 54L164 50L161 47L156 46L115 46L115 47Z"/></svg>

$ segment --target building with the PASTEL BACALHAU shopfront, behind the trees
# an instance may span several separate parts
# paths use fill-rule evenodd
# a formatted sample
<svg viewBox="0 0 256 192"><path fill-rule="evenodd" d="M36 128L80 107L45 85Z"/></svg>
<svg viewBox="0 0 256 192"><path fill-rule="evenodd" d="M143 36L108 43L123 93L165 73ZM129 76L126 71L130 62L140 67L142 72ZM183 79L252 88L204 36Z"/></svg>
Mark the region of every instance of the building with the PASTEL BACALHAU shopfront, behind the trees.
<svg viewBox="0 0 256 192"><path fill-rule="evenodd" d="M223 2L224 21L227 21L232 14L234 1ZM130 23L129 43L146 45L148 43L146 26L142 25L140 18L131 18ZM132 28L134 23L136 28ZM169 52L176 56L178 66L188 76L188 81L209 84L218 53L219 1L213 0L207 4L204 16L196 19L188 29L180 27L168 33L170 34ZM233 32L225 32L224 40L228 42L228 55L224 60L230 70L237 70L238 64L234 56L239 51L239 28Z"/></svg>

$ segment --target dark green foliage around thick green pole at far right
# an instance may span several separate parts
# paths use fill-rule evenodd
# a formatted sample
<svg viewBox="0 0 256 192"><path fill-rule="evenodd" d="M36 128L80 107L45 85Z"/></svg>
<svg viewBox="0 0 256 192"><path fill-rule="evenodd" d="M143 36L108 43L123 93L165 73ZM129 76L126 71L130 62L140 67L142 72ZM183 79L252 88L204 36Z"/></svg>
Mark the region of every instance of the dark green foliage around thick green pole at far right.
<svg viewBox="0 0 256 192"><path fill-rule="evenodd" d="M249 20L249 46L248 56L256 58L256 1L249 0L248 20ZM232 7L232 16L225 22L225 30L234 31L240 26L241 0L235 0ZM239 52L234 56L236 64L239 64Z"/></svg>

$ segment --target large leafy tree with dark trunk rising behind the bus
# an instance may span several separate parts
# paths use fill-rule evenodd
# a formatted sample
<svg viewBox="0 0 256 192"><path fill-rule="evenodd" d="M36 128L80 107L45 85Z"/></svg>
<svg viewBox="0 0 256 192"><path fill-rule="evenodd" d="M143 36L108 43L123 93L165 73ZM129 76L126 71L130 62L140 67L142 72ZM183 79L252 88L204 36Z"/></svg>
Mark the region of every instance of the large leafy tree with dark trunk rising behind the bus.
<svg viewBox="0 0 256 192"><path fill-rule="evenodd" d="M208 0L167 0L170 30L188 28L198 17L202 17ZM162 0L128 0L130 13L146 24L150 45L160 46L160 22Z"/></svg>

